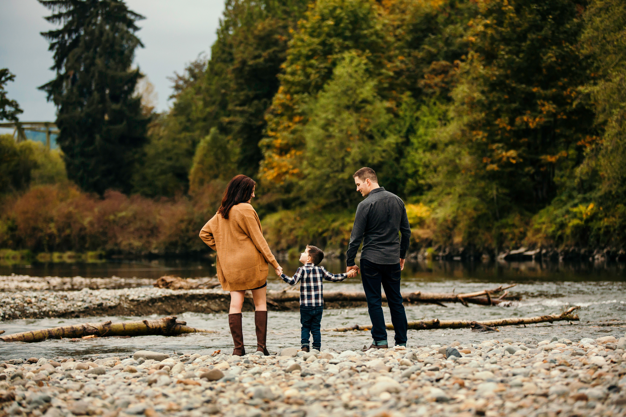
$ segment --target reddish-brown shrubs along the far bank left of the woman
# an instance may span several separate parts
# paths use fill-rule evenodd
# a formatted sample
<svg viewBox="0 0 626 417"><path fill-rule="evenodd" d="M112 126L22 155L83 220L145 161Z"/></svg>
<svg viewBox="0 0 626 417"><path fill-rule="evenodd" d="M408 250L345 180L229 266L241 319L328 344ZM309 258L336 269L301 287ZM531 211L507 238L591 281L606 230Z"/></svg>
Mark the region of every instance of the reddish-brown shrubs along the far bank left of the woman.
<svg viewBox="0 0 626 417"><path fill-rule="evenodd" d="M193 200L157 201L113 191L98 198L68 185L33 187L4 205L0 247L137 255L205 250L198 232L217 211L222 192L222 183L210 183Z"/></svg>

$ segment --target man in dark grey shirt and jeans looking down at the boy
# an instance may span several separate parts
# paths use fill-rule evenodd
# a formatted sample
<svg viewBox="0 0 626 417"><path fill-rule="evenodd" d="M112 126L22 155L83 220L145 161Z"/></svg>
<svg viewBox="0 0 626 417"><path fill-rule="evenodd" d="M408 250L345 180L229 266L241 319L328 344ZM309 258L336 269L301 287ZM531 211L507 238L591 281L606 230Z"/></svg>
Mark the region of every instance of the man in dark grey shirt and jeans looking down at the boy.
<svg viewBox="0 0 626 417"><path fill-rule="evenodd" d="M378 185L372 168L361 168L354 175L356 190L366 197L356 209L350 244L346 254L346 272L356 269L361 273L367 297L367 310L372 321L372 339L369 348L387 349L387 331L382 316L381 284L391 311L391 322L396 332L396 345L406 346L406 314L400 294L400 271L409 249L411 227L406 217L404 202L397 195ZM401 237L398 236L401 233ZM361 269L354 257L363 242Z"/></svg>

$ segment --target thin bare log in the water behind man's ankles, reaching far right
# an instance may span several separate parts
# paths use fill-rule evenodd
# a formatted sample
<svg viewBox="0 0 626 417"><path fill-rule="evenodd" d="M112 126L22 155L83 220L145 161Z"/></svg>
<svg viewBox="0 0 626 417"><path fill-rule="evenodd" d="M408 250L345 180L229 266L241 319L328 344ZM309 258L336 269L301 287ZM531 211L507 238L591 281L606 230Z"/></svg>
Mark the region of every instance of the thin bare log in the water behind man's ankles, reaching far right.
<svg viewBox="0 0 626 417"><path fill-rule="evenodd" d="M536 317L511 317L510 319L495 319L495 320L485 320L485 321L473 321L473 320L439 320L439 319L431 319L431 320L418 320L418 321L409 321L409 329L414 330L426 330L426 329L463 329L465 327L473 327L476 324L488 326L488 327L497 327L497 326L516 326L519 324L534 324L534 323L543 323L543 322L554 322L554 321L578 321L578 315L573 314L573 312L580 307L570 307L567 311L562 312L561 314L549 314L548 316L536 316ZM387 329L393 330L393 324L385 323ZM347 332L351 330L371 330L372 326L359 326L356 324L351 327L336 327L334 329L324 329L326 331L335 331L335 332Z"/></svg>

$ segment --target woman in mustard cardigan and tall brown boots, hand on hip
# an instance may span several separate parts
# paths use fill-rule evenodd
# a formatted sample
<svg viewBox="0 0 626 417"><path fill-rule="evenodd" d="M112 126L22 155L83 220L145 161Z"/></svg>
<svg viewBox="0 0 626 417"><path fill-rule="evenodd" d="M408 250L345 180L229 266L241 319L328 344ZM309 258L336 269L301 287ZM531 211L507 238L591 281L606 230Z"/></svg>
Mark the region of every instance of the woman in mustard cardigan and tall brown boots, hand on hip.
<svg viewBox="0 0 626 417"><path fill-rule="evenodd" d="M200 230L200 239L217 252L217 277L222 289L230 291L228 326L233 336L233 355L244 356L244 334L241 327L241 307L247 290L254 299L254 323L257 330L257 352L267 351L267 264L277 275L282 268L261 230L257 212L250 205L254 197L252 178L237 175L228 183L217 214Z"/></svg>

